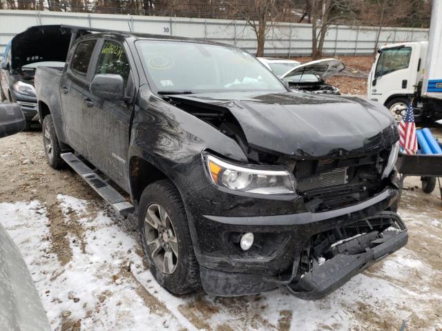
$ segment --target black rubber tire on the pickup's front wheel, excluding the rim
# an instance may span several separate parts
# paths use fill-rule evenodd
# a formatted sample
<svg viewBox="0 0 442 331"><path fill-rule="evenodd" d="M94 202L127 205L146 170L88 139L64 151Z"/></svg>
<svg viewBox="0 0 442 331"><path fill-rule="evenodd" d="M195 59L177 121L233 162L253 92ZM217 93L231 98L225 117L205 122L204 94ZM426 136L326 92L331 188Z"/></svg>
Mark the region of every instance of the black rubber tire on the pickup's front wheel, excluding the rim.
<svg viewBox="0 0 442 331"><path fill-rule="evenodd" d="M158 205L164 208L162 210L165 210L167 213L165 215L169 217L168 223L171 223L172 230L175 232L172 237L175 239L175 245L177 245L177 256L173 255L175 256L176 264L171 273L162 271L155 263L155 261L158 263L157 258L160 256L160 253L155 254L154 251L162 252L162 250L164 250L165 257L166 252L168 252L166 248L158 249L160 246L156 243L148 245L146 241L146 237L151 237L152 239L158 236L158 239L164 244L161 234L164 234L164 232L155 230L148 221L145 221L148 209L152 210L151 208L155 208L155 206ZM146 218L146 220L147 219L148 218ZM184 210L180 192L178 192L171 181L167 179L156 181L144 189L138 210L138 228L141 234L144 257L146 257L148 261L153 277L155 277L160 285L173 294L186 294L200 288L200 266L198 265L193 250L186 211ZM148 231L147 235L146 231ZM170 243L173 239L169 239ZM169 252L171 252L171 250L170 248ZM153 255L155 255L155 261ZM164 258L164 261L165 260ZM164 262L164 268L165 265L166 262Z"/></svg>

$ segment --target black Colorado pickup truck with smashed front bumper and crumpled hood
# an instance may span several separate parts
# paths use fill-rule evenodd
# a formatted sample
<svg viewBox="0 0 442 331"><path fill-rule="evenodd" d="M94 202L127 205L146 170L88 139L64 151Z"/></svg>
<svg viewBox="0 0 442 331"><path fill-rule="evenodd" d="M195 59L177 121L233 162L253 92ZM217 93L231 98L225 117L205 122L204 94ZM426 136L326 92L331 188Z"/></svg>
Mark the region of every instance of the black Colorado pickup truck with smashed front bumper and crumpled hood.
<svg viewBox="0 0 442 331"><path fill-rule="evenodd" d="M170 292L318 299L407 243L383 106L290 92L233 46L71 29L35 74L48 163L137 215Z"/></svg>

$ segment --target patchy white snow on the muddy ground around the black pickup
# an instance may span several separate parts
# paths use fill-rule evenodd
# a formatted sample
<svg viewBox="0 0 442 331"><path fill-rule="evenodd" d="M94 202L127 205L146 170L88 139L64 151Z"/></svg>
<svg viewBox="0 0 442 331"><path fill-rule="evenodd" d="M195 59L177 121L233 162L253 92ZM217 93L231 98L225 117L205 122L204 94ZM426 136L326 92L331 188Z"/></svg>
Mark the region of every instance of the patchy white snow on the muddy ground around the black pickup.
<svg viewBox="0 0 442 331"><path fill-rule="evenodd" d="M103 206L60 194L57 200L66 223L75 219L82 233L68 232L73 257L64 265L50 249L44 203L0 203L0 222L23 254L53 330L351 330L366 329L365 321L369 330L399 330L403 321L425 321L428 302L442 305L441 293L407 281L416 272L424 284L442 277L407 248L319 301L282 290L175 297L146 270L133 225ZM425 215L414 221L439 222ZM440 319L428 327L438 328Z"/></svg>

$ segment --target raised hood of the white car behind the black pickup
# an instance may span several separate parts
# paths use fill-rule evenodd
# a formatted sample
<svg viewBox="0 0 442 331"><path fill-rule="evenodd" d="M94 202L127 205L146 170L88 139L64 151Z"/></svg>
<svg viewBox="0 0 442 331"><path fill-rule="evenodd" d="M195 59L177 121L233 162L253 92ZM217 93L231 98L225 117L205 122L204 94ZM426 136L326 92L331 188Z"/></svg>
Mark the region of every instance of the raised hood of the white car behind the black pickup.
<svg viewBox="0 0 442 331"><path fill-rule="evenodd" d="M326 79L338 74L344 69L344 63L338 59L323 59L301 64L300 66L287 71L285 74L282 74L280 78L282 79L296 74L315 74L320 77L320 79Z"/></svg>

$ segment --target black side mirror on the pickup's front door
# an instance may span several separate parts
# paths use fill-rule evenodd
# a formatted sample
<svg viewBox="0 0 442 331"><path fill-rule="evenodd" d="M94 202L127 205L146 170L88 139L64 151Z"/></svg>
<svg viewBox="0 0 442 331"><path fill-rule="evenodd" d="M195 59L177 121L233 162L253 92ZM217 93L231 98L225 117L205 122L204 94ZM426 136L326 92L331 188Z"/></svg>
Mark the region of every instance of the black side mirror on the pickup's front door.
<svg viewBox="0 0 442 331"><path fill-rule="evenodd" d="M105 100L123 100L124 80L119 74L97 74L90 83L89 90Z"/></svg>

